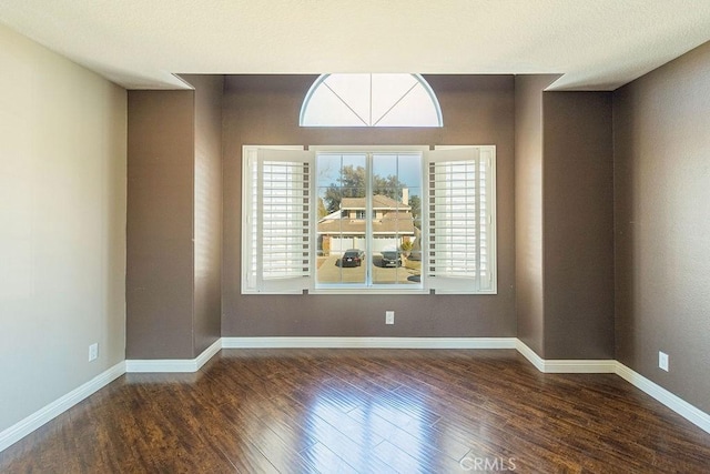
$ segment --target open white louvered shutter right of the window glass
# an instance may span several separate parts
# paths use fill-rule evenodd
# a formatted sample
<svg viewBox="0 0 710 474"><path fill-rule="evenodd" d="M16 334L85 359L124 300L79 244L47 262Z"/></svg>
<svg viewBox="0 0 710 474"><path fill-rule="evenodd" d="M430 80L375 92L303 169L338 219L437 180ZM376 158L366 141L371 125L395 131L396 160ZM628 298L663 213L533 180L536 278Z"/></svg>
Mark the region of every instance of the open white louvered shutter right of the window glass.
<svg viewBox="0 0 710 474"><path fill-rule="evenodd" d="M427 286L495 293L495 148L427 153Z"/></svg>

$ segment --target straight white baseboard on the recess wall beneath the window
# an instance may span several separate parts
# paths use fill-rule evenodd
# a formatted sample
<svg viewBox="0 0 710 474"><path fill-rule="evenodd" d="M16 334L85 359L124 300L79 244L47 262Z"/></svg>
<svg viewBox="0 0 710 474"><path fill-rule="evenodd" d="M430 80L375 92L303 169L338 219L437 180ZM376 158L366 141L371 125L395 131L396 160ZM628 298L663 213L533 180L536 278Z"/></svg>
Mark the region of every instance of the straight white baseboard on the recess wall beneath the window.
<svg viewBox="0 0 710 474"><path fill-rule="evenodd" d="M222 337L223 349L516 349L515 337Z"/></svg>

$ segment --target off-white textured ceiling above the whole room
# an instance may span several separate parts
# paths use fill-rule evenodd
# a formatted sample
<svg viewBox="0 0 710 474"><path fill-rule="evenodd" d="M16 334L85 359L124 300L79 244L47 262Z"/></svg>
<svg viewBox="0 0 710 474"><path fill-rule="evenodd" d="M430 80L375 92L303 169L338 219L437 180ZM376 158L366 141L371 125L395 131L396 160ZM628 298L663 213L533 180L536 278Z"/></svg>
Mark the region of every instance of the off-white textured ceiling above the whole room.
<svg viewBox="0 0 710 474"><path fill-rule="evenodd" d="M129 89L174 73L562 73L613 90L710 40L710 0L0 0Z"/></svg>

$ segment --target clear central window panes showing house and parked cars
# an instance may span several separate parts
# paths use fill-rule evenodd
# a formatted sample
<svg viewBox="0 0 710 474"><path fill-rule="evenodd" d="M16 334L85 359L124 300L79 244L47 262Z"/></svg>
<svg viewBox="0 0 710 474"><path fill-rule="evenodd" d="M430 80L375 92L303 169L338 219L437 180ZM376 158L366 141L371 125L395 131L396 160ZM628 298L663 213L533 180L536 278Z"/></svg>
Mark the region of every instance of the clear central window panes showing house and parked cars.
<svg viewBox="0 0 710 474"><path fill-rule="evenodd" d="M324 152L315 160L317 286L420 286L422 153Z"/></svg>

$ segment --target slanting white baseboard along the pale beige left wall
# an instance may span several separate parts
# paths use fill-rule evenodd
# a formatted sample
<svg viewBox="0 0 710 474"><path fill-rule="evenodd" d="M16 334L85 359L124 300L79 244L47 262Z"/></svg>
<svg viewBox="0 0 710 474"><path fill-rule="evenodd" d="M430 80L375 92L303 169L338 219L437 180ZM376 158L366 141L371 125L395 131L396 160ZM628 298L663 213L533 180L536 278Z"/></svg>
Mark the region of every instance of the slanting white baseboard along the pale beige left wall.
<svg viewBox="0 0 710 474"><path fill-rule="evenodd" d="M89 382L57 399L24 420L0 432L0 452L17 443L34 430L52 421L82 400L103 389L125 373L125 362L119 362Z"/></svg>

